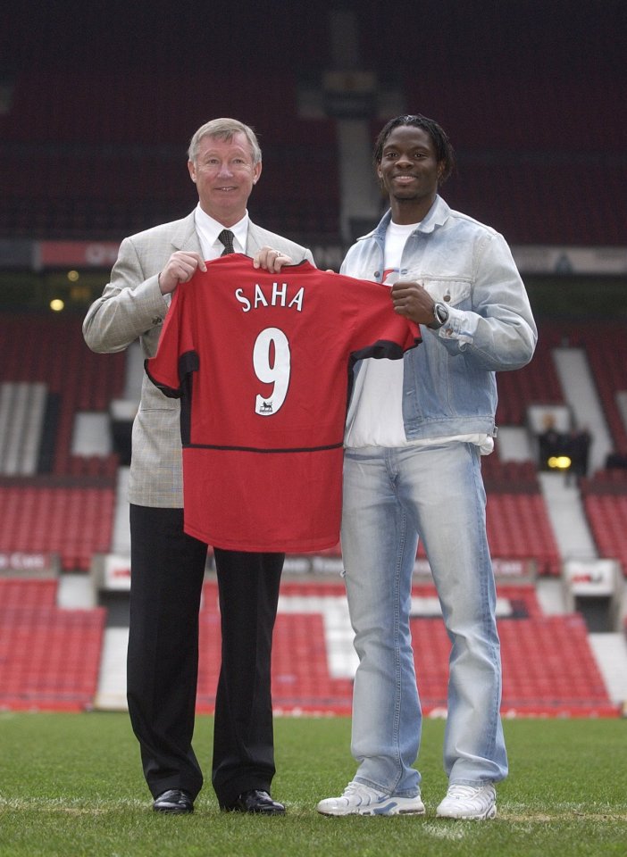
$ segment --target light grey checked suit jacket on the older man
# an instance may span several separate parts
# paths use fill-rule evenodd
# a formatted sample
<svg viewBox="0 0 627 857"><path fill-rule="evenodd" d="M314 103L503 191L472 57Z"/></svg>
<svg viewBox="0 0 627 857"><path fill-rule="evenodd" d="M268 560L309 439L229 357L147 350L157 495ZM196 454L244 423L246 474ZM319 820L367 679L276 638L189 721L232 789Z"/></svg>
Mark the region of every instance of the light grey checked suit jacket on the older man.
<svg viewBox="0 0 627 857"><path fill-rule="evenodd" d="M305 247L249 223L247 255L254 256L263 245L281 250L296 263L305 259L314 263ZM83 322L83 336L92 351L123 351L139 339L145 356L155 355L170 305L170 295L161 294L157 278L175 250L202 253L194 212L124 238L111 282ZM180 404L163 395L146 376L133 423L129 500L164 508L183 505Z"/></svg>

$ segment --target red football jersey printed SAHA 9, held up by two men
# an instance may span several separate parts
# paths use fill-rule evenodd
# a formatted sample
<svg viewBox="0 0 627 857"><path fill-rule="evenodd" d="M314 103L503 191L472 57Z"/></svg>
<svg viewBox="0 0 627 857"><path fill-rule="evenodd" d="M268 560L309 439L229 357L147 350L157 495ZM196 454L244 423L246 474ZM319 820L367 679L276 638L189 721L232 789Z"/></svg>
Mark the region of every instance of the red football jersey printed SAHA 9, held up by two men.
<svg viewBox="0 0 627 857"><path fill-rule="evenodd" d="M420 342L389 287L242 254L177 287L146 372L181 399L185 531L230 550L337 545L351 369Z"/></svg>

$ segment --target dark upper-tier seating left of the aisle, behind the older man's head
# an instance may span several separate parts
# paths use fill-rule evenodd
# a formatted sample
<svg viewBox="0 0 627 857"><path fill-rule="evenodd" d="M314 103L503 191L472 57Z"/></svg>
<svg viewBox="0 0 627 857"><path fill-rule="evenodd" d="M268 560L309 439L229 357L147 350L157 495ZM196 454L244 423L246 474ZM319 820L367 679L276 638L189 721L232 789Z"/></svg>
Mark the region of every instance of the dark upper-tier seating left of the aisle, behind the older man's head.
<svg viewBox="0 0 627 857"><path fill-rule="evenodd" d="M218 92L230 88L227 78L215 74L212 85ZM264 175L251 200L255 218L292 234L337 235L333 123L294 118L295 79L267 74L263 88L280 105L273 118L265 102L244 96L247 86L235 90L228 108L260 131ZM197 202L188 179L187 140L206 121L208 108L200 112L186 92L180 74L23 72L15 81L11 115L0 114L6 188L0 235L120 239L187 214ZM218 114L219 106L213 105ZM13 115L20 121L12 121ZM78 115L91 119L77 127ZM29 169L46 175L45 185L27 179L26 160Z"/></svg>

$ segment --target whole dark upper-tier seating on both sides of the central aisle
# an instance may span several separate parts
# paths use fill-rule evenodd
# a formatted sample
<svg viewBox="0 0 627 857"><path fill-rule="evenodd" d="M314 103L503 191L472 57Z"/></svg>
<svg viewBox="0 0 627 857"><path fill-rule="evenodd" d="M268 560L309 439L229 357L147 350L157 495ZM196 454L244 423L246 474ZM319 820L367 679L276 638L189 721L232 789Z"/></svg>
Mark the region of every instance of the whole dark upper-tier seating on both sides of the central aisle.
<svg viewBox="0 0 627 857"><path fill-rule="evenodd" d="M212 82L217 91L226 88L226 81L215 76ZM598 151L590 161L579 146L573 151L574 129L564 133L573 122L566 115L569 105L556 111L550 99L533 101L525 95L545 83L542 74L534 78L532 72L524 80L503 79L502 104L490 93L489 79L475 79L476 91L469 94L457 81L422 75L416 83L406 81L405 90L407 104L437 116L457 144L458 170L446 194L454 207L496 224L511 244L621 245L627 224L615 213L623 211L618 195L627 166L620 139L611 136L618 135L616 124L606 121L606 113L598 116L598 128L614 132L606 131L608 139L595 138ZM263 79L265 99L274 105L272 118L258 100L240 103L254 84L240 79L229 108L260 132L264 176L251 210L272 229L337 236L334 123L298 118L297 81L286 82L283 75ZM146 72L110 75L106 83L97 74L22 72L15 81L12 113L0 114L5 188L0 235L119 239L187 213L195 197L180 129L187 137L206 113L198 112L195 100L179 97L185 88L176 75L152 75L149 83ZM593 87L582 91L594 97ZM469 96L476 105L472 113L466 110ZM514 123L503 121L511 117L507 104L512 101L517 105ZM594 110L591 101L581 109L586 105L591 115L598 113L598 102ZM213 104L213 112L221 108ZM13 115L20 121L12 121ZM79 115L89 115L90 121L77 127ZM379 129L380 121L372 123L372 137ZM555 146L556 140L563 145ZM31 171L45 174L46 184L29 181ZM606 182L608 171L611 183ZM598 187L606 188L602 197ZM581 205L582 198L594 198L596 204ZM521 212L541 212L541 217Z"/></svg>

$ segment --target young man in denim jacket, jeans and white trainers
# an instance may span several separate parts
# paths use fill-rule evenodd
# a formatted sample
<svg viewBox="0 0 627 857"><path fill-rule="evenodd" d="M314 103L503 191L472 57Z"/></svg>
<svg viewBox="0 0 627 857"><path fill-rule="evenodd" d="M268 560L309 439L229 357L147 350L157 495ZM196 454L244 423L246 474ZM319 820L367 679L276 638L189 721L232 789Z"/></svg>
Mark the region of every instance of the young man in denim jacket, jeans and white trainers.
<svg viewBox="0 0 627 857"><path fill-rule="evenodd" d="M504 238L438 194L454 165L439 125L423 116L389 121L374 162L389 211L349 249L341 272L394 284L396 312L422 326L423 343L396 364L362 362L348 412L342 551L359 655L358 768L318 811L424 812L409 623L420 538L451 640L449 787L437 812L490 819L507 760L481 454L497 433L495 372L531 360L536 328Z"/></svg>

